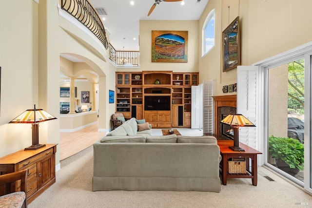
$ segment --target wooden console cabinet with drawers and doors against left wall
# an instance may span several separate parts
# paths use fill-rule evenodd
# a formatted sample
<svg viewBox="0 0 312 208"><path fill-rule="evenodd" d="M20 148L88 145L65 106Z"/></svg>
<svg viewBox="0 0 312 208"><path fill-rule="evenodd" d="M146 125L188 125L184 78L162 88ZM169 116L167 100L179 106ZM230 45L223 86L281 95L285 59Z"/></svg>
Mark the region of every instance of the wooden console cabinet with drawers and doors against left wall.
<svg viewBox="0 0 312 208"><path fill-rule="evenodd" d="M0 175L28 169L26 196L31 203L55 183L55 153L57 144L46 144L38 150L20 150L0 158ZM15 191L19 191L18 182Z"/></svg>

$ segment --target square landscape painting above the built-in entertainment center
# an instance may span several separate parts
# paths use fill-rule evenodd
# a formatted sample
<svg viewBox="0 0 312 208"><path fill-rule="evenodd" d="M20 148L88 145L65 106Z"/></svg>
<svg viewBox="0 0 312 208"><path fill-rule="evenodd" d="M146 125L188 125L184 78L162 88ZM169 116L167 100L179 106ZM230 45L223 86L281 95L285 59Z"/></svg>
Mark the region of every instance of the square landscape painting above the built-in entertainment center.
<svg viewBox="0 0 312 208"><path fill-rule="evenodd" d="M152 31L152 62L187 62L188 31Z"/></svg>

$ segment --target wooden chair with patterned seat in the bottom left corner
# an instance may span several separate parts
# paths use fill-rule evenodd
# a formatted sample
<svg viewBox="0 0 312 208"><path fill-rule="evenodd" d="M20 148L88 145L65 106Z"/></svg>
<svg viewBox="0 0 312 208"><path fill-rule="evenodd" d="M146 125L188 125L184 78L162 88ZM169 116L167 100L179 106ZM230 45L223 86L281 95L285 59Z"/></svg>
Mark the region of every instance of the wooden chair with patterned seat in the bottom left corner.
<svg viewBox="0 0 312 208"><path fill-rule="evenodd" d="M28 169L0 175L0 205L8 208L27 208L26 181ZM16 192L20 180L20 191Z"/></svg>

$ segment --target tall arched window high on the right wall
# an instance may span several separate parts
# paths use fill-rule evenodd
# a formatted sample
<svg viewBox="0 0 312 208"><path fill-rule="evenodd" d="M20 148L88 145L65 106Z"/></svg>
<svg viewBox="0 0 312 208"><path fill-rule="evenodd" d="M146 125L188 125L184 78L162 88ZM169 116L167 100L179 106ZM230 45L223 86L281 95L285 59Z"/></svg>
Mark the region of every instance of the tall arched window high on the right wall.
<svg viewBox="0 0 312 208"><path fill-rule="evenodd" d="M215 46L215 9L207 16L202 29L202 57Z"/></svg>

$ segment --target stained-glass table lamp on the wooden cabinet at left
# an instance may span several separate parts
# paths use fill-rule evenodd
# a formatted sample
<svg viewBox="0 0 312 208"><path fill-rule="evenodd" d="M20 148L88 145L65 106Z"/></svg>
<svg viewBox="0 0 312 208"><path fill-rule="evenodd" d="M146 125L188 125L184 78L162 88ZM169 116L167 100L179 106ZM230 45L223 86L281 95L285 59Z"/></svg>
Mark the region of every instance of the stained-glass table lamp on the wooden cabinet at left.
<svg viewBox="0 0 312 208"><path fill-rule="evenodd" d="M32 124L32 146L24 150L38 150L45 146L45 144L39 144L39 123L53 119L57 118L42 109L36 109L36 105L34 105L34 109L26 110L9 123Z"/></svg>

